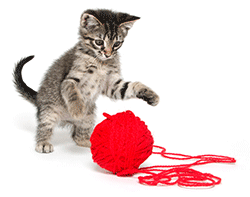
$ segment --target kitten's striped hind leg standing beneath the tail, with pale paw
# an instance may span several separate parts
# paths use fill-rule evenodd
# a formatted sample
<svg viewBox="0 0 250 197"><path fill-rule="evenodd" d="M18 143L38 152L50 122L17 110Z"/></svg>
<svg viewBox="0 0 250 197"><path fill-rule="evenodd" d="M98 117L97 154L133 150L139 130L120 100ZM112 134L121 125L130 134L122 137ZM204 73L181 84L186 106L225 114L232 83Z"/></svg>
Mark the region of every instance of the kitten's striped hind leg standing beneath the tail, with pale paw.
<svg viewBox="0 0 250 197"><path fill-rule="evenodd" d="M58 121L59 115L51 106L44 106L38 110L38 127L36 134L36 151L39 153L53 152L53 145L50 143L53 129Z"/></svg>

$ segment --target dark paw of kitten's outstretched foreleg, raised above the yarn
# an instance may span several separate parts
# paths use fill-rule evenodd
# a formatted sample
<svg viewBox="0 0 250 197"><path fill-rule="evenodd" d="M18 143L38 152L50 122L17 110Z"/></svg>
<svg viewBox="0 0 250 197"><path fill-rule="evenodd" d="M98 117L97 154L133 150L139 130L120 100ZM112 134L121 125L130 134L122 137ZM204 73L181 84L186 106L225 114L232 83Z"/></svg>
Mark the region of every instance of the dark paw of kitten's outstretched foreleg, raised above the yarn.
<svg viewBox="0 0 250 197"><path fill-rule="evenodd" d="M143 99L149 105L156 106L159 103L159 96L152 90L148 88L142 88L138 94L136 95L137 98Z"/></svg>

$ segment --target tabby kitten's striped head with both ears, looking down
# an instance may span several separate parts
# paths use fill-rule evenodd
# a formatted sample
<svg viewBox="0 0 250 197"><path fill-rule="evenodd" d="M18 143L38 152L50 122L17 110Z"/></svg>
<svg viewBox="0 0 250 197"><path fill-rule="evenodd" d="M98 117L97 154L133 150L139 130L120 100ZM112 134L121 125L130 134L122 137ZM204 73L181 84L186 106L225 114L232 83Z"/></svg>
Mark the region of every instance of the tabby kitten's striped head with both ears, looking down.
<svg viewBox="0 0 250 197"><path fill-rule="evenodd" d="M81 40L100 60L111 59L138 19L136 16L109 10L86 10L81 16Z"/></svg>

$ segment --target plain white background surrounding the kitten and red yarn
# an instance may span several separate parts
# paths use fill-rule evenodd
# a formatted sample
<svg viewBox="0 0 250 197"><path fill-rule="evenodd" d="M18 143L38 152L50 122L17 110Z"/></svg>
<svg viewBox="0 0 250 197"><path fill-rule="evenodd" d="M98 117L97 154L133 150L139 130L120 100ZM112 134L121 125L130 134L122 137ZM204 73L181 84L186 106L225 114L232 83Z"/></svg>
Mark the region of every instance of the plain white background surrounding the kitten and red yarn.
<svg viewBox="0 0 250 197"><path fill-rule="evenodd" d="M77 42L80 15L89 8L141 17L120 49L123 76L161 99L151 107L100 97L97 123L103 112L129 109L168 152L235 157L235 165L195 168L220 176L220 185L150 187L136 177L116 177L93 163L67 129L56 129L52 154L35 152L36 109L13 88L14 64L35 55L23 78L37 90L53 61ZM1 1L1 196L249 196L249 10L247 0ZM151 156L144 166L170 163Z"/></svg>

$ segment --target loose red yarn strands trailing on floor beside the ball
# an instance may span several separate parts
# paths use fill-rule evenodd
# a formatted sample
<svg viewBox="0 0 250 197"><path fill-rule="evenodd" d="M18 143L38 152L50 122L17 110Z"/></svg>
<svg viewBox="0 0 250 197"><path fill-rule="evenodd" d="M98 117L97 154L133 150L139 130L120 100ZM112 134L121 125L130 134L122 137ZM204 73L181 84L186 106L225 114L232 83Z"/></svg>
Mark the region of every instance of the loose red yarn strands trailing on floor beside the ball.
<svg viewBox="0 0 250 197"><path fill-rule="evenodd" d="M174 160L190 160L196 159L191 164L180 165L158 165L139 168L137 173L150 174L149 176L139 176L139 183L145 185L179 185L183 187L212 187L220 184L221 178L209 173L202 173L191 169L191 166L204 165L208 163L235 163L236 160L231 157L221 155L198 155L190 156L177 153L166 153L166 149L160 146L154 148L161 149L160 152L153 154L160 154L161 156ZM158 173L156 173L158 172Z"/></svg>

